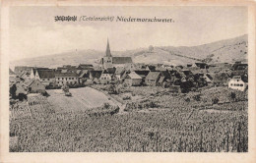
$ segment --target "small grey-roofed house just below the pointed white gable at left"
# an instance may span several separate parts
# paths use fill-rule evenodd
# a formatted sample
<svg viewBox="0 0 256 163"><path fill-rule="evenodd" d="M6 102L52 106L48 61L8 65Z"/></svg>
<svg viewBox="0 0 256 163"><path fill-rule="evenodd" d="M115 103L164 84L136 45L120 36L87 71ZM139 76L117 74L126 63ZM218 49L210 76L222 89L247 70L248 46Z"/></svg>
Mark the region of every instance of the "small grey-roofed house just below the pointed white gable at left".
<svg viewBox="0 0 256 163"><path fill-rule="evenodd" d="M45 92L45 85L42 84L39 80L32 79L27 83L28 90L30 93L44 93Z"/></svg>

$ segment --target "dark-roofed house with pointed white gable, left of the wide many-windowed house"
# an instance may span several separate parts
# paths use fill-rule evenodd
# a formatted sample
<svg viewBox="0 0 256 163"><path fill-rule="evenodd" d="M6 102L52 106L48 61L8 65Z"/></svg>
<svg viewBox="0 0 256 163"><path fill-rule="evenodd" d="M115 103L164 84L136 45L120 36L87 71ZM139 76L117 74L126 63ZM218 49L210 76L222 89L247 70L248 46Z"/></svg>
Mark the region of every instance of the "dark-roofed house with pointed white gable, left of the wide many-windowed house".
<svg viewBox="0 0 256 163"><path fill-rule="evenodd" d="M35 80L39 80L45 86L50 85L55 82L55 72L53 70L35 70L34 78Z"/></svg>

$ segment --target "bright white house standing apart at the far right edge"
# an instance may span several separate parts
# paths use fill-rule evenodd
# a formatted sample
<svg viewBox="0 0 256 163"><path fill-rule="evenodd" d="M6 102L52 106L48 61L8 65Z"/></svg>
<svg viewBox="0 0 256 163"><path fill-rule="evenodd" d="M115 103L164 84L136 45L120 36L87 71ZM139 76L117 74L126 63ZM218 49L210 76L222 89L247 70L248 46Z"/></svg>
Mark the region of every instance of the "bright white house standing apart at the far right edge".
<svg viewBox="0 0 256 163"><path fill-rule="evenodd" d="M234 76L232 79L228 81L228 88L231 88L231 89L244 91L246 86L247 86L247 83L245 81L242 81L240 76Z"/></svg>

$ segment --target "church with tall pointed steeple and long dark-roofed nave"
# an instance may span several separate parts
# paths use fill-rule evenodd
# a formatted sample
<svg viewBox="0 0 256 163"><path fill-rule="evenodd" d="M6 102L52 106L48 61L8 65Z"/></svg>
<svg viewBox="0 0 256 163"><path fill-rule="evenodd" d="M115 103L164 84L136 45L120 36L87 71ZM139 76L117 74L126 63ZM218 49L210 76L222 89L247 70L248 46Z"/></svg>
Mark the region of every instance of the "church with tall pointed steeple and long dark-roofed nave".
<svg viewBox="0 0 256 163"><path fill-rule="evenodd" d="M113 57L111 55L109 42L107 39L105 56L100 59L99 68L100 69L107 69L107 68L118 68L122 67L126 70L133 69L133 61L131 57Z"/></svg>

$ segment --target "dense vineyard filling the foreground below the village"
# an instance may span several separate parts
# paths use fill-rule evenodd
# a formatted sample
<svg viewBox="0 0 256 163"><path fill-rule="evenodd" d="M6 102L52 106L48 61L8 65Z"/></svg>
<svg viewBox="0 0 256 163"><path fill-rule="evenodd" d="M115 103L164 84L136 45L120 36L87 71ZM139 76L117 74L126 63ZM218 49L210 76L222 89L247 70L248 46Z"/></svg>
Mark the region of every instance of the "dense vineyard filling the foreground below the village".
<svg viewBox="0 0 256 163"><path fill-rule="evenodd" d="M32 96L10 105L10 136L17 137L10 151L248 151L246 102L218 105L226 108L218 112L185 103L178 99L173 107L165 103L166 109L156 112L127 114L115 114L118 107L107 106L97 108L97 114L93 109L56 111L48 97Z"/></svg>

